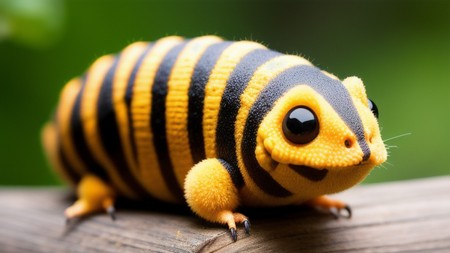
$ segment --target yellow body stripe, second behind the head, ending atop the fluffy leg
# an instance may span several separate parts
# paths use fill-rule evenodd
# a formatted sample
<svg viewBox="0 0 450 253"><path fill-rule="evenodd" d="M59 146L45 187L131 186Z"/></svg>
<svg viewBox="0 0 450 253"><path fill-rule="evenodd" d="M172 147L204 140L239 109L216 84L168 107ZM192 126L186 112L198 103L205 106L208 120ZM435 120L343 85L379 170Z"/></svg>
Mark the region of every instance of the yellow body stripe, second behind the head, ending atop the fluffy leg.
<svg viewBox="0 0 450 253"><path fill-rule="evenodd" d="M216 157L216 128L220 102L228 77L249 52L265 48L256 42L240 41L229 46L222 53L205 87L205 102L203 109L203 136L207 158Z"/></svg>

